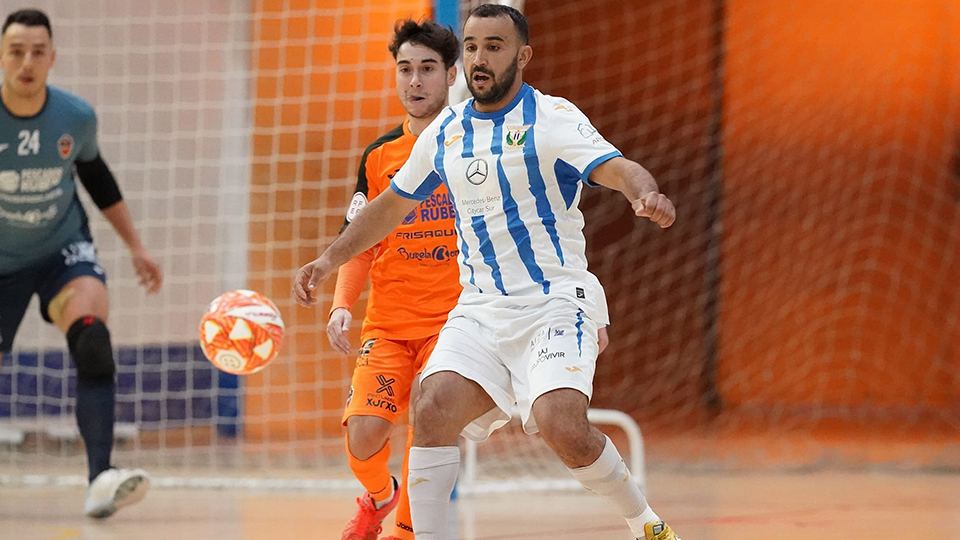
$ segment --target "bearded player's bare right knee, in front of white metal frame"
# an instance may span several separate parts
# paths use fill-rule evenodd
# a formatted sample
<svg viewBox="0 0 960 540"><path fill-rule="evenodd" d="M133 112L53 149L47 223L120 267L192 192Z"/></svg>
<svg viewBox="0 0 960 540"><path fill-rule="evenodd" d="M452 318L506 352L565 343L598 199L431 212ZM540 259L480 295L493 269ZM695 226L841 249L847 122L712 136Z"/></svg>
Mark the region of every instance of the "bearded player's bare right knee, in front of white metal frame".
<svg viewBox="0 0 960 540"><path fill-rule="evenodd" d="M587 399L580 392L544 394L534 403L533 414L543 440L566 466L586 467L603 452L606 439L587 421Z"/></svg>

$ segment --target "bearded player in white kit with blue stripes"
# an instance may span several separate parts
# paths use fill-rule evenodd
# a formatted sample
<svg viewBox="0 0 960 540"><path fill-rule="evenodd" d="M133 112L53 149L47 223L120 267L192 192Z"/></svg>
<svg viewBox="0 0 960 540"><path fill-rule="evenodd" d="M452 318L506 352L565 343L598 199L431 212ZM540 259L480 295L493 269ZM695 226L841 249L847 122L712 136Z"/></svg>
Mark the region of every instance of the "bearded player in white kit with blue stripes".
<svg viewBox="0 0 960 540"><path fill-rule="evenodd" d="M316 260L294 295L317 284L399 224L445 183L454 199L463 293L421 378L407 486L418 540L445 540L460 466L457 438L486 439L516 403L577 480L604 496L638 540L679 540L649 507L620 453L587 421L606 299L587 270L583 184L617 190L663 228L673 203L569 101L523 83L526 18L508 6L473 10L464 75L473 99L448 107L421 134L392 190L370 203ZM374 208L375 207L375 208Z"/></svg>

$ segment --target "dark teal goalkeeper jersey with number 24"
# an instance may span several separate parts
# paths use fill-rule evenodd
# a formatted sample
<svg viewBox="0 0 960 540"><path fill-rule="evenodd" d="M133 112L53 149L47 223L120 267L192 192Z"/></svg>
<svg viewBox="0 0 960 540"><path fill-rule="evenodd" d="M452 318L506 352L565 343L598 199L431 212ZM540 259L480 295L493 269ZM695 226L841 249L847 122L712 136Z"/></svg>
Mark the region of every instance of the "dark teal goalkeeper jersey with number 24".
<svg viewBox="0 0 960 540"><path fill-rule="evenodd" d="M82 98L47 87L34 116L0 103L0 275L28 268L87 235L74 165L94 160L97 116Z"/></svg>

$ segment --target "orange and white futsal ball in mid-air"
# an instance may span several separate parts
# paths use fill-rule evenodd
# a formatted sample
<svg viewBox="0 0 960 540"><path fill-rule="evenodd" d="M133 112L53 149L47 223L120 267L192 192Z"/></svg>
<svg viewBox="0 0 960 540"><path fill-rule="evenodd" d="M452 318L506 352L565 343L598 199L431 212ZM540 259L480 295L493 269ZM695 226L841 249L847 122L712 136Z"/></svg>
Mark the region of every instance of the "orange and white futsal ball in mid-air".
<svg viewBox="0 0 960 540"><path fill-rule="evenodd" d="M267 297L238 289L221 294L200 320L200 345L213 365L234 375L267 367L283 340L280 310Z"/></svg>

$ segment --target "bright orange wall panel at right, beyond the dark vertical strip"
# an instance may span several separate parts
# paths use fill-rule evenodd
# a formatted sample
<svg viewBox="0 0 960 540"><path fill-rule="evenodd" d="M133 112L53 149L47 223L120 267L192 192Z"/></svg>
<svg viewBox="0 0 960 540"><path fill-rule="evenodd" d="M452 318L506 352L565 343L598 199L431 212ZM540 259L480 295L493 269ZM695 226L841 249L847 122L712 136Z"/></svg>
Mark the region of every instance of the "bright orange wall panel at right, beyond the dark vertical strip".
<svg viewBox="0 0 960 540"><path fill-rule="evenodd" d="M960 403L958 35L947 1L728 3L728 407Z"/></svg>

